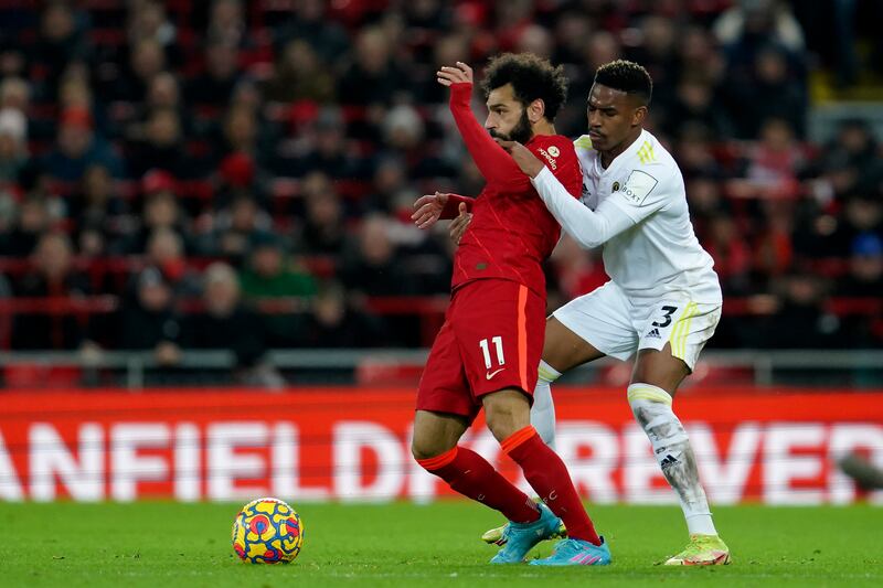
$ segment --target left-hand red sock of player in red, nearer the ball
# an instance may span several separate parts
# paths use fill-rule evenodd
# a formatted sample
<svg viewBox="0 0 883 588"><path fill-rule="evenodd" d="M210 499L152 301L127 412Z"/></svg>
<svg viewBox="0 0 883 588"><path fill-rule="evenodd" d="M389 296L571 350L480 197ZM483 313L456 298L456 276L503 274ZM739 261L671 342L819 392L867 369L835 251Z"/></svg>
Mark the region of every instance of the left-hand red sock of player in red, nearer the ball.
<svg viewBox="0 0 883 588"><path fill-rule="evenodd" d="M465 447L455 447L434 458L418 459L417 463L460 494L500 511L510 521L529 523L540 516L536 505L524 492L500 475L485 458Z"/></svg>

